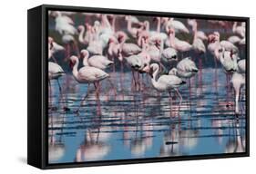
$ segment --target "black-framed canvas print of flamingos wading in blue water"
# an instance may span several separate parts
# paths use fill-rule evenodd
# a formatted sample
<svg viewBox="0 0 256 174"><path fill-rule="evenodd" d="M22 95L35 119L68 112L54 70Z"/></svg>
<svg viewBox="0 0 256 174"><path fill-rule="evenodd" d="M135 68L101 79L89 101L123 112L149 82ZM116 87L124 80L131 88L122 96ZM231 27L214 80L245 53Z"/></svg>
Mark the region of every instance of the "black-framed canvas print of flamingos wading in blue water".
<svg viewBox="0 0 256 174"><path fill-rule="evenodd" d="M249 156L249 18L28 10L28 164Z"/></svg>

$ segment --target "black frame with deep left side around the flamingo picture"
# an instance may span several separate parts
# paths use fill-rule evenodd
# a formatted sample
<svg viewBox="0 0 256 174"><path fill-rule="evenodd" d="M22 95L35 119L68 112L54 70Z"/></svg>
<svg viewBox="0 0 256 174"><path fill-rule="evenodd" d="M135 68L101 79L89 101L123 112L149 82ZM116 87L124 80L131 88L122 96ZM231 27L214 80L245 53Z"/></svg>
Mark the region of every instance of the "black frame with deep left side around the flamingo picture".
<svg viewBox="0 0 256 174"><path fill-rule="evenodd" d="M193 155L134 160L101 160L77 163L47 162L47 10L104 14L173 16L179 18L220 19L246 23L246 151L214 155ZM40 5L27 11L27 163L40 169L59 169L103 165L120 165L178 160L206 160L250 156L250 18L210 14L179 14L125 9L108 9L64 5Z"/></svg>

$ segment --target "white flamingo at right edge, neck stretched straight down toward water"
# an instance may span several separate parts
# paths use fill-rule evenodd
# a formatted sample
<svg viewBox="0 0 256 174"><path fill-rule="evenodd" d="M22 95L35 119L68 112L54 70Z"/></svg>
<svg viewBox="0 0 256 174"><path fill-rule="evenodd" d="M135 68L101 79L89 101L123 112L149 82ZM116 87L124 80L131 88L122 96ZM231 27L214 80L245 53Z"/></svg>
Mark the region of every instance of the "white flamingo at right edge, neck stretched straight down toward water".
<svg viewBox="0 0 256 174"><path fill-rule="evenodd" d="M245 77L241 73L233 73L230 82L232 83L233 89L235 91L235 113L239 114L240 91L245 84Z"/></svg>

